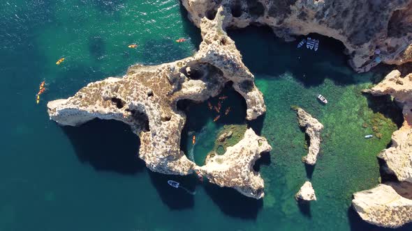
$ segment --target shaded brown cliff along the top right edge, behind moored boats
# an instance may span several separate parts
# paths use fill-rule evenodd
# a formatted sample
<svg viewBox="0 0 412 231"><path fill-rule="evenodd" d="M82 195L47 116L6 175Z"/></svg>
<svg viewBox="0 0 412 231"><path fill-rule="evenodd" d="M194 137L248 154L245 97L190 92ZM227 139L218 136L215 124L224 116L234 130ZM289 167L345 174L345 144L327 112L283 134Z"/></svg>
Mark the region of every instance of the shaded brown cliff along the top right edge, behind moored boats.
<svg viewBox="0 0 412 231"><path fill-rule="evenodd" d="M224 6L225 27L267 25L286 40L296 35L319 33L340 40L360 72L383 63L412 61L412 0L182 0L189 18L197 25L214 18ZM376 48L380 54L376 55Z"/></svg>

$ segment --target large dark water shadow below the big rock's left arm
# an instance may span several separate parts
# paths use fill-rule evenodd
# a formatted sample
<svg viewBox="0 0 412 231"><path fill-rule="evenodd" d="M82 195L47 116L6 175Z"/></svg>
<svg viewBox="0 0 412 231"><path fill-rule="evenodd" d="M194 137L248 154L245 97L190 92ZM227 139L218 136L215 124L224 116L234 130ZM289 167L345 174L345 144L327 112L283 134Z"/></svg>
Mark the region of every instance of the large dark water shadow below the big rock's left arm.
<svg viewBox="0 0 412 231"><path fill-rule="evenodd" d="M145 170L138 158L140 140L128 125L115 120L92 120L80 127L61 127L78 159L96 170L126 175Z"/></svg>

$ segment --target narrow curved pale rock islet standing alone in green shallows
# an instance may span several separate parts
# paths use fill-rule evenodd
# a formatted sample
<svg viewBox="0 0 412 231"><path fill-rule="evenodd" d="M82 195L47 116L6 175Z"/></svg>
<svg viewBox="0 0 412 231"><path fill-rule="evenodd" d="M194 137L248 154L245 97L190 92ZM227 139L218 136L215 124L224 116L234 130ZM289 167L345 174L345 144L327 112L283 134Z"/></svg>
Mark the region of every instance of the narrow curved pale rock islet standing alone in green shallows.
<svg viewBox="0 0 412 231"><path fill-rule="evenodd" d="M304 128L304 132L306 132L310 138L309 152L307 156L302 157L302 161L306 164L315 165L316 157L318 157L321 148L321 131L323 125L301 108L296 109L296 114L299 126Z"/></svg>

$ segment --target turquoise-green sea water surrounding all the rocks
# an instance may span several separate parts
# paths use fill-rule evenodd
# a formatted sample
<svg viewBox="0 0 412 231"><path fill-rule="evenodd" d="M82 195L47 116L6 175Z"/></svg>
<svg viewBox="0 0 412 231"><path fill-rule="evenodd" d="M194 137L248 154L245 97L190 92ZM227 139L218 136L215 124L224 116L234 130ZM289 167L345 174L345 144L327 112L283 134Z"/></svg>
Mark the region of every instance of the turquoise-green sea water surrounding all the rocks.
<svg viewBox="0 0 412 231"><path fill-rule="evenodd" d="M377 230L350 209L351 194L378 184L376 154L397 129L399 110L386 97L360 94L375 74L353 73L338 42L319 37L315 53L297 50L267 29L231 31L265 95L266 115L246 122L244 101L230 87L223 106L232 111L217 122L206 103L184 107L182 148L197 164L223 125L247 124L268 138L273 150L256 165L266 196L253 200L194 176L150 172L136 157L138 138L120 122L59 127L47 116L47 101L73 95L90 81L121 76L134 63L165 63L196 52L200 31L179 1L5 0L0 17L1 231ZM176 43L178 38L189 40ZM137 49L127 47L134 43ZM64 63L55 65L61 57ZM43 80L47 91L36 104ZM330 104L319 104L318 93ZM301 162L306 141L292 105L325 125L314 168ZM365 140L365 134L382 137ZM170 188L168 179L196 195ZM307 179L318 201L300 207L293 196Z"/></svg>

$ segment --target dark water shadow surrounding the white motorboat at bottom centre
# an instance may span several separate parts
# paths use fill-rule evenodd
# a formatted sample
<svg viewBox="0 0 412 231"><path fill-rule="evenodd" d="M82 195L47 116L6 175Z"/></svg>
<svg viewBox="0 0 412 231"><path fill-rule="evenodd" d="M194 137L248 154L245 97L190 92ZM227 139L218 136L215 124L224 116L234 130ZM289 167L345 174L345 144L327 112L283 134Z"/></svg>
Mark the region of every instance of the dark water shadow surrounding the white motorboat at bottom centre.
<svg viewBox="0 0 412 231"><path fill-rule="evenodd" d="M164 175L148 171L152 184L156 187L157 192L163 203L170 209L191 209L194 206L193 195L184 191L184 189L175 189L168 184L168 180L179 182L190 191L196 191L197 179L193 176Z"/></svg>

